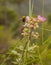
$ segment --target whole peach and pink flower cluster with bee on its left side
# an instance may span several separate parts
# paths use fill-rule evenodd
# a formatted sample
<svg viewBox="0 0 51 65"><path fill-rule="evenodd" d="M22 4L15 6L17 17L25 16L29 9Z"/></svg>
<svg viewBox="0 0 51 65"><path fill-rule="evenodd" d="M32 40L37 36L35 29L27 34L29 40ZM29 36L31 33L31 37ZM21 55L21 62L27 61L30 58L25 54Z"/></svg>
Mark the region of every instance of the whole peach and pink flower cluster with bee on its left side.
<svg viewBox="0 0 51 65"><path fill-rule="evenodd" d="M45 22L46 21L46 18L38 15L37 18L34 18L34 17L29 17L29 16L23 16L23 19L22 21L24 22L24 25L23 25L23 30L22 30L22 35L23 36L30 36L30 33L31 33L31 36L34 38L34 39L39 39L40 38L40 35L38 34L38 32L36 32L36 29L39 27L39 23L40 22Z"/></svg>

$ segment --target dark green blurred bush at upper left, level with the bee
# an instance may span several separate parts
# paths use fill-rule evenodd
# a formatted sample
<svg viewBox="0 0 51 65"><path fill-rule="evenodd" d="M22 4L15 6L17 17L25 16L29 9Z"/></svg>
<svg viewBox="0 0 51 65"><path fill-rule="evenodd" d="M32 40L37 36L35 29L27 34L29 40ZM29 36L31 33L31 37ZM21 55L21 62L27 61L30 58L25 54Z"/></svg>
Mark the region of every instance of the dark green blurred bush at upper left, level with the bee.
<svg viewBox="0 0 51 65"><path fill-rule="evenodd" d="M14 10L6 8L4 6L0 8L0 24L6 24L6 20L8 21L8 24L10 24L11 22L13 23L17 20L17 13Z"/></svg>

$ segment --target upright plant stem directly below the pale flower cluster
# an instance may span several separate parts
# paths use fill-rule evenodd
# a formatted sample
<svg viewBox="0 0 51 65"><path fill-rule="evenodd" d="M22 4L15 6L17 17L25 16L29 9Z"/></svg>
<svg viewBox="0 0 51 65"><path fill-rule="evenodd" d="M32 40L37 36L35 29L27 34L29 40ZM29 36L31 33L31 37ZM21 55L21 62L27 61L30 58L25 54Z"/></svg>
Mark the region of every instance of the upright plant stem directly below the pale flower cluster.
<svg viewBox="0 0 51 65"><path fill-rule="evenodd" d="M29 37L28 37L28 39L27 39L27 41L25 43L25 46L24 46L24 49L23 49L23 52L22 52L22 65L27 65L27 63L25 63L25 62L26 62L26 59L27 59L27 51L28 51L28 47L27 46L28 45L29 45ZM25 55L26 59L24 59L24 55ZM25 62L24 62L24 60L25 60Z"/></svg>

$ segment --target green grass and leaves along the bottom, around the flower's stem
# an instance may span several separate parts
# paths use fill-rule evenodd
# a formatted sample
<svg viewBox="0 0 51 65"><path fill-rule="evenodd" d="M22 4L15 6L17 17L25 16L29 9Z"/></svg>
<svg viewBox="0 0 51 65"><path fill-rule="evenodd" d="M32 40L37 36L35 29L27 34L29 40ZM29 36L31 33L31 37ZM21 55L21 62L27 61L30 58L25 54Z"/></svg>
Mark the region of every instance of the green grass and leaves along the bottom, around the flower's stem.
<svg viewBox="0 0 51 65"><path fill-rule="evenodd" d="M50 40L46 40L42 45L32 44L24 50L25 39L13 40L12 47L9 49L9 52L2 55L2 65L27 65L40 64L40 65L51 65L51 48ZM27 50L27 51L26 51ZM24 60L22 61L22 52L24 51ZM26 56L27 54L27 56ZM8 58L8 59L7 59ZM3 63L3 59L6 61Z"/></svg>

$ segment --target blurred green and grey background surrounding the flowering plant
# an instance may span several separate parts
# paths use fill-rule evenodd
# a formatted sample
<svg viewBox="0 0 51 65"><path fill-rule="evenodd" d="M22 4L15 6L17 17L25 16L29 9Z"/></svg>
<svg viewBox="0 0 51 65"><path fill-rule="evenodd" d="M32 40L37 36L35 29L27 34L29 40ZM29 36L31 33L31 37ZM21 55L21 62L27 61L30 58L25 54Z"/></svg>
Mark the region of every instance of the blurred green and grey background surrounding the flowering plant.
<svg viewBox="0 0 51 65"><path fill-rule="evenodd" d="M51 0L44 0L44 8L42 2L43 0L32 0L32 16L42 15L43 9L44 16L47 18L47 21L43 24L44 45L42 44L42 29L40 28L38 29L40 39L33 40L32 43L39 45L41 52L44 51L41 55L42 65L51 65ZM12 63L17 56L10 54L9 50L13 50L16 46L24 46L25 39L22 39L21 36L21 26L23 23L20 18L27 15L29 15L29 0L0 0L0 65L19 65ZM17 50L17 48L15 50ZM21 51L17 51L21 53ZM2 64L7 54L10 54L11 59ZM31 59L28 58L29 63L27 65L41 65L38 62L39 60L36 59L36 56L34 57L34 55L32 55L32 57L35 58L32 62L30 62Z"/></svg>

